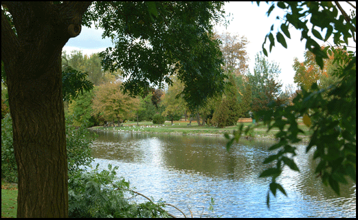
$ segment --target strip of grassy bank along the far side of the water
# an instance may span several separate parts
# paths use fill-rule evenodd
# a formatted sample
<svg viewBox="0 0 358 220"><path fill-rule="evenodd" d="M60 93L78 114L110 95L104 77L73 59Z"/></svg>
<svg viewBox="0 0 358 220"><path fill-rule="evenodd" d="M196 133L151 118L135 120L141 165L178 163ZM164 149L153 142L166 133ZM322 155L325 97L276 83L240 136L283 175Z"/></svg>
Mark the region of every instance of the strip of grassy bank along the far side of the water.
<svg viewBox="0 0 358 220"><path fill-rule="evenodd" d="M252 122L238 123L236 126L227 126L223 129L216 128L214 126L198 126L197 122L192 122L188 126L188 122L175 121L174 124L166 121L164 124L153 124L152 122L126 122L123 126L107 127L93 126L91 129L102 131L114 131L114 132L133 132L133 133L163 133L163 134L179 134L179 135L223 135L224 133L232 133L232 131L238 129L238 125L244 124L244 126L252 126ZM302 122L298 122L299 128L305 132L300 135L306 142L311 133L307 126ZM288 127L287 127L288 128ZM286 128L286 129L287 129ZM267 132L267 126L263 124L257 124L254 132L251 133L252 137L262 139L274 139L274 135L278 130L271 130Z"/></svg>

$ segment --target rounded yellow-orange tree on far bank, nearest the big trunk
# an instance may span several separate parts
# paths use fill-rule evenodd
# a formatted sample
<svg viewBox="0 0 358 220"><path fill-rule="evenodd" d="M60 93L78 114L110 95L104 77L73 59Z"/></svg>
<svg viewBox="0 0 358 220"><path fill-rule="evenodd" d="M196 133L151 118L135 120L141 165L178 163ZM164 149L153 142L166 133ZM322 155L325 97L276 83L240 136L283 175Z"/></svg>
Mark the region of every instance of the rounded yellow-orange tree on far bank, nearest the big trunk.
<svg viewBox="0 0 358 220"><path fill-rule="evenodd" d="M95 88L92 115L100 114L107 122L126 120L135 115L139 100L123 94L122 83L104 83Z"/></svg>

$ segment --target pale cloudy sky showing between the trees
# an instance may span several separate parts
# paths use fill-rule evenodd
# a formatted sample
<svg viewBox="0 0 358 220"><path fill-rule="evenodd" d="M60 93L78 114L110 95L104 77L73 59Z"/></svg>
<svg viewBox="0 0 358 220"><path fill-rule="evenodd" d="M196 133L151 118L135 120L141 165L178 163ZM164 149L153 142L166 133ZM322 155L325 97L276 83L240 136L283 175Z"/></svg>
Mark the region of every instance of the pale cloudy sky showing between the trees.
<svg viewBox="0 0 358 220"><path fill-rule="evenodd" d="M355 3L354 3L355 4ZM344 5L342 5L344 6ZM262 51L262 43L265 41L266 34L269 33L271 25L276 23L273 32L276 35L277 28L280 21L276 20L277 16L283 17L283 12L280 8L276 8L271 12L270 17L267 17L267 10L269 5L267 3L260 3L260 7L256 3L232 1L225 3L225 12L231 14L230 25L227 29L223 25L216 25L217 32L230 32L246 36L249 44L247 45L247 53L249 55L249 69L253 73L254 61L256 53ZM349 12L349 10L347 10ZM276 41L271 53L269 53L269 61L276 62L281 68L279 79L284 85L293 84L294 71L292 68L293 58L298 57L300 61L304 61L304 44L305 41L300 41L301 32L295 28L289 29L291 39L286 39L287 49L282 47ZM81 50L83 54L93 54L105 50L107 47L113 47L110 39L102 39L103 30L96 30L95 28L82 27L82 32L76 38L69 39L63 50L69 54L72 50ZM317 41L319 42L319 41ZM320 43L320 42L319 42ZM269 41L265 47L269 52Z"/></svg>

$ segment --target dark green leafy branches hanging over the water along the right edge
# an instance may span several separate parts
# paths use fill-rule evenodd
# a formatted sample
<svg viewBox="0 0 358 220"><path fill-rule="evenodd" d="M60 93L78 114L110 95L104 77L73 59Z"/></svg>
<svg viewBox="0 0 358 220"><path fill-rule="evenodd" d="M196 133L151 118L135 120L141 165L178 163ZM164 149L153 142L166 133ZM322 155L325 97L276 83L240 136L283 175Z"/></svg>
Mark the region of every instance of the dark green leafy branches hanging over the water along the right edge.
<svg viewBox="0 0 358 220"><path fill-rule="evenodd" d="M273 164L271 168L264 170L260 177L271 177L269 192L267 192L267 206L269 206L270 191L276 196L276 191L280 190L287 195L284 188L276 179L282 173L284 166L289 166L291 170L300 172L293 158L296 155L296 147L292 144L300 142L299 133L304 133L298 128L297 119L303 117L304 124L313 131L310 142L306 146L306 153L311 149L314 151L313 158L317 159L318 164L315 169L317 177L322 178L325 185L331 186L339 195L339 184L347 184L350 177L356 181L356 55L355 52L342 52L347 50L348 39L355 41L355 12L350 17L340 8L339 3L333 5L331 2L278 2L271 3L270 12L276 6L287 11L284 23L280 26L284 35L290 38L289 24L301 30L302 39L306 40L306 49L315 54L317 65L323 68L324 58L328 54L335 54L334 63L339 67L335 70L335 76L339 78L337 83L329 87L320 89L313 83L309 91L302 87L302 92L293 99L293 105L282 105L273 111L260 111L255 117L261 118L267 124L267 130L277 127L280 129L276 137L280 140L278 144L270 146L269 150L275 150L276 154L270 155L264 164ZM338 10L343 15L338 16ZM307 15L310 15L307 17ZM309 20L308 20L309 19ZM310 21L313 28L308 28L306 23ZM321 30L326 29L326 36L323 38L316 27ZM273 27L271 27L271 31ZM336 50L334 46L325 47L321 50L320 45L309 36L309 30L315 38L327 41L333 34L335 46L342 46L343 50ZM333 32L335 30L335 32ZM267 56L265 43L267 37L271 48L275 45L273 34L270 32L265 38L262 50ZM342 41L343 39L343 41ZM276 34L276 40L284 47L287 44L281 32ZM322 94L327 96L322 96ZM271 104L273 104L271 102ZM289 125L289 129L284 131L284 126ZM244 130L240 126L238 131L234 131L234 137L230 138L227 148L230 148L234 140L240 138L241 133L247 133L250 128Z"/></svg>

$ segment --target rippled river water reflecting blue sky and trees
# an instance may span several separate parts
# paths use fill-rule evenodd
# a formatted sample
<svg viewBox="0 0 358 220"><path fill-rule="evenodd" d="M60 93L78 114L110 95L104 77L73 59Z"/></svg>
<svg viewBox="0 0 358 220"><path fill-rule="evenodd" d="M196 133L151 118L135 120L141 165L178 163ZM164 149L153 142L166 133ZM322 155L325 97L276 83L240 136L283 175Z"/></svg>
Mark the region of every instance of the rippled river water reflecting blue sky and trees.
<svg viewBox="0 0 358 220"><path fill-rule="evenodd" d="M341 186L341 195L322 184L314 172L312 152L298 145L300 173L285 169L278 192L266 206L269 178L258 178L269 155L269 141L241 140L226 151L223 137L153 135L96 131L93 165L119 166L118 176L137 192L163 199L190 217L356 217L356 184ZM214 212L208 210L214 198ZM166 210L183 215L174 208Z"/></svg>

